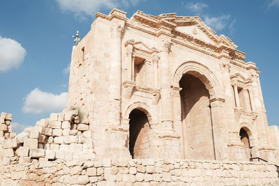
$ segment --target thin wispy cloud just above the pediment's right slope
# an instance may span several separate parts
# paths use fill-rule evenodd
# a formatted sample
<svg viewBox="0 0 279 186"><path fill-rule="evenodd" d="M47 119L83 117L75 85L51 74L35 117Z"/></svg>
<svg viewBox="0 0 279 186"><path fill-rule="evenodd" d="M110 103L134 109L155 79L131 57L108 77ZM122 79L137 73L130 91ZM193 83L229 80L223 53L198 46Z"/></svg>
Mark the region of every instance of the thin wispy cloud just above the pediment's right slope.
<svg viewBox="0 0 279 186"><path fill-rule="evenodd" d="M219 17L209 17L207 15L204 15L204 23L210 26L213 30L223 30L229 23L229 17L230 15L221 15ZM235 22L235 21L234 21ZM232 25L229 25L230 29L232 29Z"/></svg>

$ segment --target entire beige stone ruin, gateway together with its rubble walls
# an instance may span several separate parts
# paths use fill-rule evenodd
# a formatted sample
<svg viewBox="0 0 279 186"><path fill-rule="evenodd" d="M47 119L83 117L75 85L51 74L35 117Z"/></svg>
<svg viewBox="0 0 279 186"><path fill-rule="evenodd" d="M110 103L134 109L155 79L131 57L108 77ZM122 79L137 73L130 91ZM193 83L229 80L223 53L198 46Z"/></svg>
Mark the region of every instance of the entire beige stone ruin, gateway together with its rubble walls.
<svg viewBox="0 0 279 186"><path fill-rule="evenodd" d="M96 17L67 108L20 134L1 113L0 185L279 185L278 126L232 40L199 17Z"/></svg>

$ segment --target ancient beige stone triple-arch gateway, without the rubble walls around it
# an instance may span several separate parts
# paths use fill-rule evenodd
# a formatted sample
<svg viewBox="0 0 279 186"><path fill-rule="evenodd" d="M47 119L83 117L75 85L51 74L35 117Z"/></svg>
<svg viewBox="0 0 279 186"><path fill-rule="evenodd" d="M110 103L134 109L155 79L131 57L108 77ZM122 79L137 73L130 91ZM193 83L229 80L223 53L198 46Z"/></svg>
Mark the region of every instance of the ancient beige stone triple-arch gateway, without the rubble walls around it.
<svg viewBox="0 0 279 186"><path fill-rule="evenodd" d="M97 157L276 160L259 71L232 40L199 17L96 17L73 47L68 107Z"/></svg>

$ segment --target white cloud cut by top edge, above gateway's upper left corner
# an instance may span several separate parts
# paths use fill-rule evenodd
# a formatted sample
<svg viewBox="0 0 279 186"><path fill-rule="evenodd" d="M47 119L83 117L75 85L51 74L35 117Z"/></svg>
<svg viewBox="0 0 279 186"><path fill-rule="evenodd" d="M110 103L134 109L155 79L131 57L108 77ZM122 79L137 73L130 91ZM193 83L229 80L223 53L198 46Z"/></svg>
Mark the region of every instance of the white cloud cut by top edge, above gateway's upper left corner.
<svg viewBox="0 0 279 186"><path fill-rule="evenodd" d="M56 0L61 10L69 10L75 13L75 16L86 18L84 15L93 17L101 8L112 9L115 7L135 6L142 0Z"/></svg>

